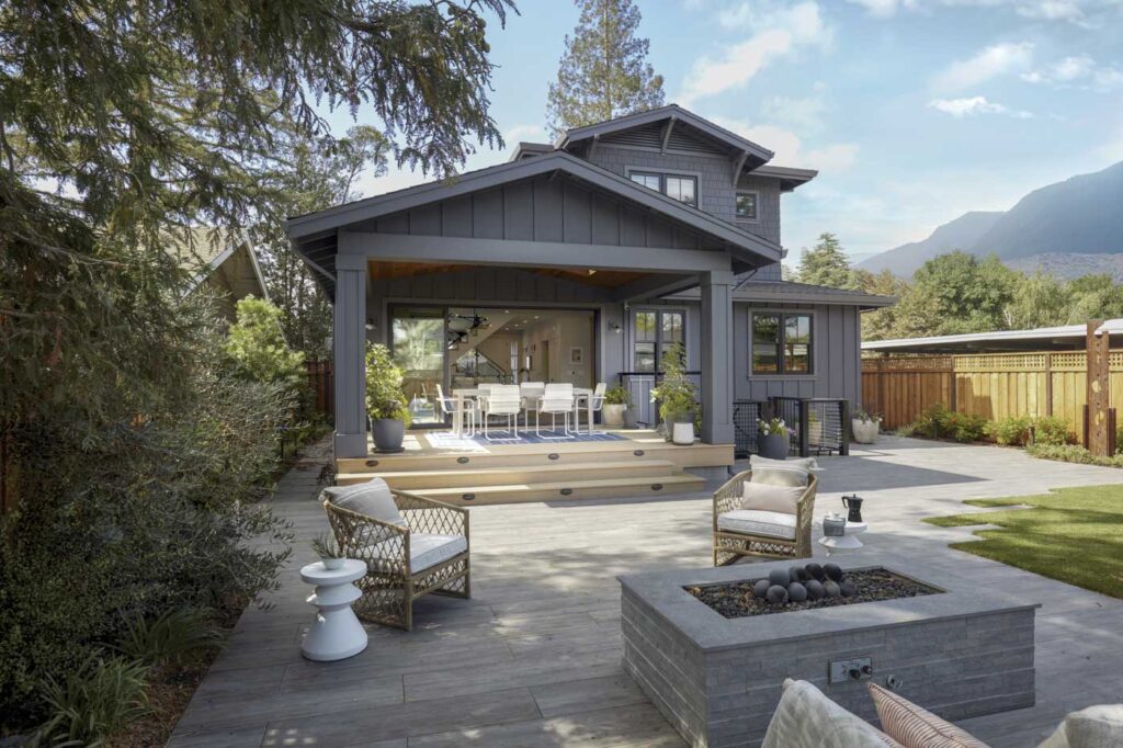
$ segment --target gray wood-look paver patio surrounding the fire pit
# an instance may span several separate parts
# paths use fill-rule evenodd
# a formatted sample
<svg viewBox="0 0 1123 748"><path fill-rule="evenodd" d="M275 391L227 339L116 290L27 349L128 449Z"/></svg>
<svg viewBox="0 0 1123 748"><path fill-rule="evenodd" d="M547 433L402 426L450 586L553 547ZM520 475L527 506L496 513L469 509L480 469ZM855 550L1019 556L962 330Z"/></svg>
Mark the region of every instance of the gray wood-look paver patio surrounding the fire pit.
<svg viewBox="0 0 1123 748"><path fill-rule="evenodd" d="M1042 603L1038 705L966 729L996 748L1032 746L1068 711L1123 702L1123 601L951 550L969 528L920 521L971 511L964 499L1123 483L1123 473L895 437L822 464L816 517L857 492L862 540L879 555ZM307 463L282 481L273 503L299 538L282 586L271 610L241 617L168 745L683 745L620 665L615 575L709 565L709 494L473 508L473 599L423 599L413 632L371 627L362 655L317 664L299 651L312 609L298 569L327 528L318 471Z"/></svg>

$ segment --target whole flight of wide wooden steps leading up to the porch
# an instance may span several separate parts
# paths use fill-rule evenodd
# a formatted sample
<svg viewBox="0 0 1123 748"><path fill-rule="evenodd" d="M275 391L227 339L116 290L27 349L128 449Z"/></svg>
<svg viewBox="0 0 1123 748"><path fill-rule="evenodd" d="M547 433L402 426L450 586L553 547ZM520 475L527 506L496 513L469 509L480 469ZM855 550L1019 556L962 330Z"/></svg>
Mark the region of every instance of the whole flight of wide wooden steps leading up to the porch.
<svg viewBox="0 0 1123 748"><path fill-rule="evenodd" d="M499 445L480 453L403 453L339 459L336 482L381 477L391 487L451 504L643 496L701 491L691 467L732 465L730 445L664 441Z"/></svg>

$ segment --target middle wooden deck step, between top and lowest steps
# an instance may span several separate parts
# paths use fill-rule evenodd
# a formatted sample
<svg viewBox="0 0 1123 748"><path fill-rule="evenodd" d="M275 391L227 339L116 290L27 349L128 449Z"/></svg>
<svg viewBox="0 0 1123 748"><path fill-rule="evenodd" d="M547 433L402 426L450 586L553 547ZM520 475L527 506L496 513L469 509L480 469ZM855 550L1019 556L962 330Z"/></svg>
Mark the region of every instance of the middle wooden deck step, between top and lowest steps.
<svg viewBox="0 0 1123 748"><path fill-rule="evenodd" d="M676 473L668 459L630 459L602 463L554 462L545 465L514 465L501 467L463 467L462 469L368 471L341 473L339 485L362 483L377 476L392 489L418 491L447 489L456 485L512 485L520 483L558 483L570 478L591 481L605 477L650 477Z"/></svg>

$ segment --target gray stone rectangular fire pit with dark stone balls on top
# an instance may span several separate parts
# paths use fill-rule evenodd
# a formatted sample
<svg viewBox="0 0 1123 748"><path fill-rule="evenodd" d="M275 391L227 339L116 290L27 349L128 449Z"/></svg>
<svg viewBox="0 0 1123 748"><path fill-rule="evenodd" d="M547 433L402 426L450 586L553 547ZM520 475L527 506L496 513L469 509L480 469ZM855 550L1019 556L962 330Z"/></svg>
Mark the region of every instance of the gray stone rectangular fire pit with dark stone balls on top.
<svg viewBox="0 0 1123 748"><path fill-rule="evenodd" d="M690 745L758 745L787 677L870 721L869 681L951 721L1033 705L1039 605L969 578L897 557L832 558L907 596L711 606L773 569L811 560L619 577L624 667Z"/></svg>

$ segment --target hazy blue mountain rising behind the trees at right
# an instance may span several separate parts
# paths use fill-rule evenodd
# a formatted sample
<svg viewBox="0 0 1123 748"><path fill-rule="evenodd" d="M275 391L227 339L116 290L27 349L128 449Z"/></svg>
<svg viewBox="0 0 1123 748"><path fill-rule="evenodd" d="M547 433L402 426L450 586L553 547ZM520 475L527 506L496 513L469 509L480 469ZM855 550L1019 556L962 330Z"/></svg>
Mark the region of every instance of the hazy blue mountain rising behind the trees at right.
<svg viewBox="0 0 1123 748"><path fill-rule="evenodd" d="M1066 277L1077 267L1119 275L1123 263L1112 255L1123 255L1123 162L1034 190L1006 212L966 213L929 238L884 252L859 267L887 267L909 277L952 249L994 253L1012 266L1042 267ZM1067 256L1072 256L1071 266Z"/></svg>

